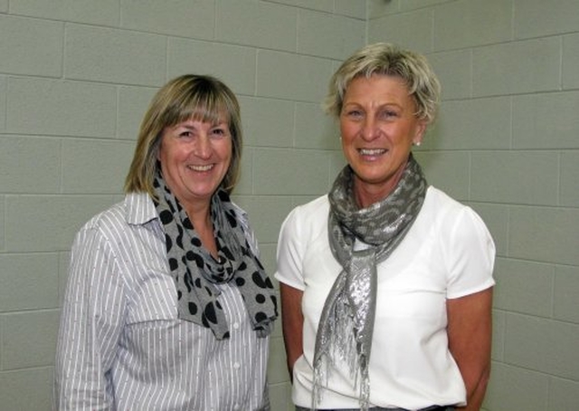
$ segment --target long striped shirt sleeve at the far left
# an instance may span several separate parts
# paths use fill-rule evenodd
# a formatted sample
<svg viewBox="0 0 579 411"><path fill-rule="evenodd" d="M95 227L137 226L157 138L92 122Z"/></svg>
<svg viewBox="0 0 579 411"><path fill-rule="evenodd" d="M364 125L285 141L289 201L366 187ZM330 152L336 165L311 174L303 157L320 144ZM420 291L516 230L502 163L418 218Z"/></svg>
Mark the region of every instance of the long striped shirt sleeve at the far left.
<svg viewBox="0 0 579 411"><path fill-rule="evenodd" d="M114 409L110 368L124 323L126 293L111 244L84 228L71 251L55 362L59 410Z"/></svg>

